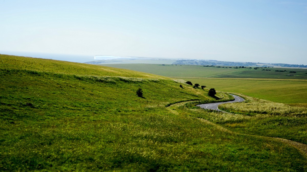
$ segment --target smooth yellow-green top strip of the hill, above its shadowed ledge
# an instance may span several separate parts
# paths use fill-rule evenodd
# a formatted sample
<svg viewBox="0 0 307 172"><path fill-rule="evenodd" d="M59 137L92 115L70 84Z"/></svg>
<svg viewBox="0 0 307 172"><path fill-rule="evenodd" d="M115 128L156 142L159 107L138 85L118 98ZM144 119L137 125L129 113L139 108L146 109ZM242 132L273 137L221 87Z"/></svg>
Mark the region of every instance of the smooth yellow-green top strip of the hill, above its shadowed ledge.
<svg viewBox="0 0 307 172"><path fill-rule="evenodd" d="M51 59L25 58L20 56L11 56L4 54L0 54L0 68L25 69L25 70L44 71L51 73L75 74L75 75L121 76L121 77L166 79L166 77L154 74L130 71L125 69L117 69L111 67L103 67L99 65L90 65L84 63L74 63L74 62L58 61Z"/></svg>

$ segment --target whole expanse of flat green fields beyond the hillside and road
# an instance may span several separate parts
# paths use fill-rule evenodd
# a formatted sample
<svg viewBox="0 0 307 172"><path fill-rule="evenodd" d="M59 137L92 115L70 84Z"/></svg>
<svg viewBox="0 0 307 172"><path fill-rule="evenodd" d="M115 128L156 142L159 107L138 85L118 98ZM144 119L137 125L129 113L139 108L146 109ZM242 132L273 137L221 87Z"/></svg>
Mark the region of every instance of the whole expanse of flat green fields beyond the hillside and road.
<svg viewBox="0 0 307 172"><path fill-rule="evenodd" d="M219 91L242 93L251 97L257 97L279 103L307 103L307 82L305 82L307 81L305 80L305 75L307 76L305 72L307 69L262 68L271 70L263 71L261 68L255 70L245 68L234 69L203 67L194 65L163 66L130 64L110 66L154 73L167 77L175 77L176 79L191 81L193 84L198 83L200 85L206 85L207 88L215 88ZM297 77L289 77L287 75L291 73L275 72L275 70L297 71L297 73L292 73L297 75ZM248 80L240 78L254 79Z"/></svg>

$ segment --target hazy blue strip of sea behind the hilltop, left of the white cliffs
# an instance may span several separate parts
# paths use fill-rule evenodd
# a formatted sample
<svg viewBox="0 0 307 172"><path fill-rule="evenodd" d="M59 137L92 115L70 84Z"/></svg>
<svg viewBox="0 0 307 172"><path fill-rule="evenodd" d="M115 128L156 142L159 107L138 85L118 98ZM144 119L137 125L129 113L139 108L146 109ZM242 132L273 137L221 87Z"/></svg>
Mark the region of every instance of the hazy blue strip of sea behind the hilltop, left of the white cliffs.
<svg viewBox="0 0 307 172"><path fill-rule="evenodd" d="M0 54L33 57L33 58L47 58L47 59L62 60L62 61L77 62L77 63L94 61L94 56L91 55L49 54L49 53L2 51L2 50L0 50Z"/></svg>

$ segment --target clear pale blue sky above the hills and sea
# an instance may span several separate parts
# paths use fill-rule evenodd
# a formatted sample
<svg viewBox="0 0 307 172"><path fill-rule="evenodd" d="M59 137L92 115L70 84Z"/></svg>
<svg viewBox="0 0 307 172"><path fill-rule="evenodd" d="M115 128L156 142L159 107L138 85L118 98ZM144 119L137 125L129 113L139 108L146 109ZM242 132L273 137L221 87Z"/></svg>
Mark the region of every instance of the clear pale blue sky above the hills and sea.
<svg viewBox="0 0 307 172"><path fill-rule="evenodd" d="M0 0L2 51L307 65L307 1Z"/></svg>

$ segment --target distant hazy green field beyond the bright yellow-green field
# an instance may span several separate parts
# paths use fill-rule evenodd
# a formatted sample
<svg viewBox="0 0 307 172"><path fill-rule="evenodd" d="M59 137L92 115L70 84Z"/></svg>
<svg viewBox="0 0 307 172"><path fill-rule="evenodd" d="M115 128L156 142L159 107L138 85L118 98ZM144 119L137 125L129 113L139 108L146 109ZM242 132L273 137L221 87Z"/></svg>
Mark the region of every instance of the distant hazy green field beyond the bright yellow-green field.
<svg viewBox="0 0 307 172"><path fill-rule="evenodd" d="M106 66L153 73L167 77L218 77L218 78L275 78L275 79L307 79L307 69L293 68L223 68L204 67L199 65L157 65L157 64L109 64ZM254 68L254 67L252 67ZM270 71L269 71L270 70ZM286 70L286 72L275 72ZM296 73L289 73L296 71ZM288 76L294 75L294 76Z"/></svg>

